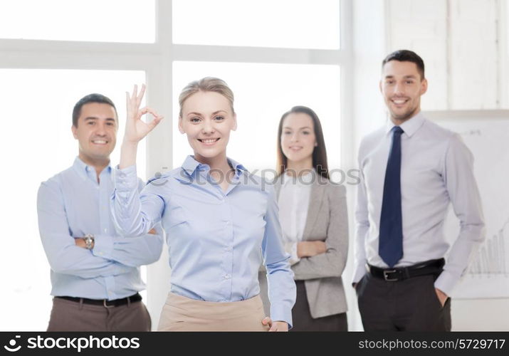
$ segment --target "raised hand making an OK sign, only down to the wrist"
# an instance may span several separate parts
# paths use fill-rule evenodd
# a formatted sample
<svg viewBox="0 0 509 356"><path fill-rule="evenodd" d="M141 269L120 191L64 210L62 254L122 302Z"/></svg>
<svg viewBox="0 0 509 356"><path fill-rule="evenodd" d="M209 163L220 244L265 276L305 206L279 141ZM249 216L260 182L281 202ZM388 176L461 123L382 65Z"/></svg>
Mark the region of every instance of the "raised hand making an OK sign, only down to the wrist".
<svg viewBox="0 0 509 356"><path fill-rule="evenodd" d="M126 103L127 103L127 122L125 123L125 134L124 143L137 144L143 137L147 136L148 133L154 130L154 127L159 124L162 120L162 116L157 115L151 108L142 108L140 110L140 104L142 103L143 95L145 95L145 84L142 85L140 94L138 92L138 86L135 85L132 90L132 95L125 92ZM149 112L154 117L151 122L144 122L142 116Z"/></svg>

